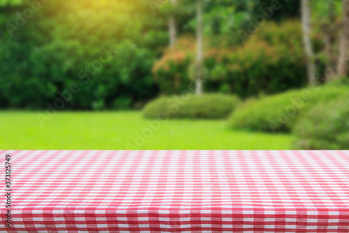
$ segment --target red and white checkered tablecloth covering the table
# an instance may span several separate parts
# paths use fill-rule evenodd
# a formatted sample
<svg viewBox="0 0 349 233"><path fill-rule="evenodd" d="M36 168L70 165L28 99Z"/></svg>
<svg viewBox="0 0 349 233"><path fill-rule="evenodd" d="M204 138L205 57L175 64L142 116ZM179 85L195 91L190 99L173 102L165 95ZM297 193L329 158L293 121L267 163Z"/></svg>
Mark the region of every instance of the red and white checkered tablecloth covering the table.
<svg viewBox="0 0 349 233"><path fill-rule="evenodd" d="M349 151L6 154L13 232L349 232Z"/></svg>

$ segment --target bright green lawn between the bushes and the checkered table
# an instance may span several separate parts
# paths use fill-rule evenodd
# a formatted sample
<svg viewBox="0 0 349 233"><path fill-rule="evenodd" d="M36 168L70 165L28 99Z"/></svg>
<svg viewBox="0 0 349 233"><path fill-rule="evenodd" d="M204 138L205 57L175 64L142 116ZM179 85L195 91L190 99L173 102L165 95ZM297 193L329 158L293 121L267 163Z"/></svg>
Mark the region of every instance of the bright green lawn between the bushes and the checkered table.
<svg viewBox="0 0 349 233"><path fill-rule="evenodd" d="M223 120L168 120L148 128L139 112L61 112L40 126L32 112L0 112L0 149L31 150L286 150L292 136L228 129ZM45 113L42 113L45 114Z"/></svg>

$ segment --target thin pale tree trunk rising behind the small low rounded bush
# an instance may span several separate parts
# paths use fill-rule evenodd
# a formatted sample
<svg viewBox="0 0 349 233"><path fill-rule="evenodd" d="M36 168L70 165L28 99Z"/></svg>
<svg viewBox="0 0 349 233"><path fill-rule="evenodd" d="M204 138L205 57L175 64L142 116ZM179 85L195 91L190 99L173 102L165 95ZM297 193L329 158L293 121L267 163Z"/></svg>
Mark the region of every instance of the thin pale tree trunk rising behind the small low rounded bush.
<svg viewBox="0 0 349 233"><path fill-rule="evenodd" d="M196 94L202 94L202 0L197 0L198 28L196 32Z"/></svg>

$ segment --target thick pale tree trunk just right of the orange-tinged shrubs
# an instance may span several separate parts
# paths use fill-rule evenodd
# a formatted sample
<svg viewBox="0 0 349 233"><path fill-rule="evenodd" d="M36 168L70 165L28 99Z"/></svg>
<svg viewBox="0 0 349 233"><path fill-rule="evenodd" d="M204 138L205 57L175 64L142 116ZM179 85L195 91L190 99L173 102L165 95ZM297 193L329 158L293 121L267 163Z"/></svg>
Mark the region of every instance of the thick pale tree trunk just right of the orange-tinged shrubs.
<svg viewBox="0 0 349 233"><path fill-rule="evenodd" d="M314 62L313 46L311 44L311 11L309 0L302 0L302 29L303 29L303 43L306 52L306 69L308 71L308 80L310 85L316 85L315 71L316 66Z"/></svg>

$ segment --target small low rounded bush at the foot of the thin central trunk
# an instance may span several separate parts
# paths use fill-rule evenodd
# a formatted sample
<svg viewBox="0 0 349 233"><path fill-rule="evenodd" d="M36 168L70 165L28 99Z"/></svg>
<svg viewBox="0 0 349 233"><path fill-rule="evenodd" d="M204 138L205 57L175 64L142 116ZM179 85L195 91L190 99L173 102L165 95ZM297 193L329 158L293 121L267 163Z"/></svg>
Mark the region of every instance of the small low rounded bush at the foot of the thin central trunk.
<svg viewBox="0 0 349 233"><path fill-rule="evenodd" d="M145 106L145 118L223 119L235 110L239 98L223 94L192 94L161 97Z"/></svg>

